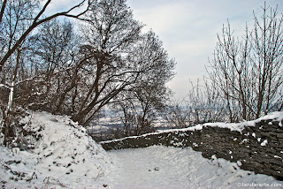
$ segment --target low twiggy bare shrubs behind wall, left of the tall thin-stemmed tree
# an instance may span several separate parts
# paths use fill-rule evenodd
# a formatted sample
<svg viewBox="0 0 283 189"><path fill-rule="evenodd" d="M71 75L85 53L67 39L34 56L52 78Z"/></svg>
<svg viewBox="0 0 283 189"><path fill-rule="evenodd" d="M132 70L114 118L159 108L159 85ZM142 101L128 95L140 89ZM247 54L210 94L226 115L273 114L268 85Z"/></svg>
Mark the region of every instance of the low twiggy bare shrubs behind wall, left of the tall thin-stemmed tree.
<svg viewBox="0 0 283 189"><path fill-rule="evenodd" d="M214 83L203 79L191 82L188 95L181 102L172 102L165 119L172 127L185 128L208 122L226 121L224 102Z"/></svg>

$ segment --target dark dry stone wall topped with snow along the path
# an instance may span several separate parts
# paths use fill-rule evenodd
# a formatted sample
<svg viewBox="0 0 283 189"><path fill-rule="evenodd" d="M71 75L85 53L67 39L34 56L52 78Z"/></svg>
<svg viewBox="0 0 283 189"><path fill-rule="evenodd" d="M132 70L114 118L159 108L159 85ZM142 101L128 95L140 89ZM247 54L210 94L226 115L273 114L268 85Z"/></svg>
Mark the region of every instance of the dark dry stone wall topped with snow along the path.
<svg viewBox="0 0 283 189"><path fill-rule="evenodd" d="M241 131L213 125L202 129L180 129L149 133L122 140L101 142L105 150L164 145L193 147L210 158L216 155L230 162L238 162L241 169L283 178L283 121L267 119L254 126L244 125Z"/></svg>

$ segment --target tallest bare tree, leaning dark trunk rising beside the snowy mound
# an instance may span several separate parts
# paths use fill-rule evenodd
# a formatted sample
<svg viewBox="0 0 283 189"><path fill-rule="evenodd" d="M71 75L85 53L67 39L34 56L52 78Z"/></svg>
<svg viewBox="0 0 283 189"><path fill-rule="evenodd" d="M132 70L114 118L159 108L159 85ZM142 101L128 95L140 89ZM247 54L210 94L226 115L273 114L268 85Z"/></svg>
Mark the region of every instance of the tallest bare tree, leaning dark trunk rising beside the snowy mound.
<svg viewBox="0 0 283 189"><path fill-rule="evenodd" d="M121 91L131 87L142 72L125 58L142 29L125 1L100 1L91 6L86 19L90 21L80 26L86 45L80 51L82 57L88 58L85 79L78 90L81 99L73 115L83 125Z"/></svg>

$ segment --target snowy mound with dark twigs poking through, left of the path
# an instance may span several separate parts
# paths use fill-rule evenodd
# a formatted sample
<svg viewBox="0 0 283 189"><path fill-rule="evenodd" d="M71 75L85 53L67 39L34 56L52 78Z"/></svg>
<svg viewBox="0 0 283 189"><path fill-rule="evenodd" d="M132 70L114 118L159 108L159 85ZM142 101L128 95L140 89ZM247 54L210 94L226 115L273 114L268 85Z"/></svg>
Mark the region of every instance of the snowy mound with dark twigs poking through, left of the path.
<svg viewBox="0 0 283 189"><path fill-rule="evenodd" d="M0 147L0 185L103 187L98 180L110 170L111 159L85 128L46 112L34 112L21 122L31 123L26 130L37 131L37 141L28 151Z"/></svg>

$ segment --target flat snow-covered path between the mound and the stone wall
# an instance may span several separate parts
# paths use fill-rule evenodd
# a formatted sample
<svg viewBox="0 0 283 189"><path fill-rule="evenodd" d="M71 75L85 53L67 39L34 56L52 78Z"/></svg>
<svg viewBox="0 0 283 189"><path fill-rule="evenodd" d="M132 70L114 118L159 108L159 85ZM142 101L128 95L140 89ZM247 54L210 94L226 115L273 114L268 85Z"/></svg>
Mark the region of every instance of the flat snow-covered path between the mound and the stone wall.
<svg viewBox="0 0 283 189"><path fill-rule="evenodd" d="M108 188L239 188L245 184L283 185L283 182L272 177L240 170L237 163L223 159L205 159L190 147L123 149L113 150L110 155L116 165L108 176L111 180Z"/></svg>

